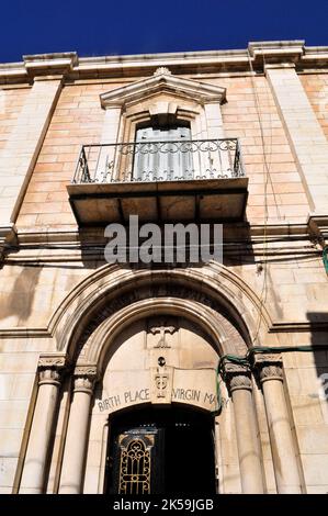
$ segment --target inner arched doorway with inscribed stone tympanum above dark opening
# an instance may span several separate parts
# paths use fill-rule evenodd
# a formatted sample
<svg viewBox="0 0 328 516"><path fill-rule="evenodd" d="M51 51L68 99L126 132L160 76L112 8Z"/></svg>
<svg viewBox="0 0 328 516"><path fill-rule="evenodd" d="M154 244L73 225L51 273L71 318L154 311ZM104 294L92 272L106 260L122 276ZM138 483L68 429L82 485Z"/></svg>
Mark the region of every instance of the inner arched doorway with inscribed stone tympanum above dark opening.
<svg viewBox="0 0 328 516"><path fill-rule="evenodd" d="M121 332L97 392L110 435L105 493L215 493L217 362L211 337L181 316Z"/></svg>

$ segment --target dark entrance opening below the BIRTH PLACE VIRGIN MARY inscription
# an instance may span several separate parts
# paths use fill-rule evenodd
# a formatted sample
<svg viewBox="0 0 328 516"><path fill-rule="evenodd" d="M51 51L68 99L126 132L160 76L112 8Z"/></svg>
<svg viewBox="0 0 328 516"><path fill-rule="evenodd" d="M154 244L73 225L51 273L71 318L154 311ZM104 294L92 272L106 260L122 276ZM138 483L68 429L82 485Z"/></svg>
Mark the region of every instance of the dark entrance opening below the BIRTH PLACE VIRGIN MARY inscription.
<svg viewBox="0 0 328 516"><path fill-rule="evenodd" d="M104 492L214 494L213 416L173 406L113 416Z"/></svg>

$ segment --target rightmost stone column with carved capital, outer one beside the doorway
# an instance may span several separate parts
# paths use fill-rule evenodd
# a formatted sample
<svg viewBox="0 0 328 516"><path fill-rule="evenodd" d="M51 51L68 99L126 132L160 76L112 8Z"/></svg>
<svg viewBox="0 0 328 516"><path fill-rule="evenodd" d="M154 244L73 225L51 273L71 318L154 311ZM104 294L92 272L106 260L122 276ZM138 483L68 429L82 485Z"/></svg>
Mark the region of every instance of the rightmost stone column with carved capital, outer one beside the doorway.
<svg viewBox="0 0 328 516"><path fill-rule="evenodd" d="M278 493L301 493L301 478L283 388L282 358L280 355L258 354L255 366L264 396Z"/></svg>

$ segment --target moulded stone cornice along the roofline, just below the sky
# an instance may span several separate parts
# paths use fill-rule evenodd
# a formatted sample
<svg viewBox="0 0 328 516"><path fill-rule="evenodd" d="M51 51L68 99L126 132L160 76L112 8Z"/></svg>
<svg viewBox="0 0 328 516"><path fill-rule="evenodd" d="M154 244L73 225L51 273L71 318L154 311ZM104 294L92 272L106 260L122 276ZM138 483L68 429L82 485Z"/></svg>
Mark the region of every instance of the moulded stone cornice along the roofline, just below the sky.
<svg viewBox="0 0 328 516"><path fill-rule="evenodd" d="M172 74L257 72L264 64L294 64L296 70L328 66L327 46L305 46L303 40L250 42L246 49L79 57L75 52L23 56L21 63L0 64L0 83L31 82L37 76L64 75L67 80L145 77L159 67ZM251 65L251 66L250 66Z"/></svg>

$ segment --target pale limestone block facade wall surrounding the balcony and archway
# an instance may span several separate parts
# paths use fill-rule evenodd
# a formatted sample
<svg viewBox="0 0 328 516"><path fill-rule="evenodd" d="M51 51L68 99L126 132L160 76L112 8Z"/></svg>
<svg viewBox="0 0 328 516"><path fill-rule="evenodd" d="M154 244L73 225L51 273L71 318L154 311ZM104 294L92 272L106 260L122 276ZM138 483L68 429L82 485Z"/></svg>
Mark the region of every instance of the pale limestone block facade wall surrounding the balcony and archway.
<svg viewBox="0 0 328 516"><path fill-rule="evenodd" d="M156 61L154 67L161 65L165 63ZM307 72L298 69L301 66L295 68L294 61L278 63L276 58L264 69L256 56L253 76L245 60L237 69L224 65L211 68L212 71L201 69L202 59L192 72L179 68L183 63L171 65L180 77L226 88L227 102L214 104L220 110L217 120L213 121L212 105L207 112L204 110L203 124L208 123L212 131L222 120L219 128L225 136L240 138L249 178L246 224L225 225L224 267L186 268L190 278L199 274L204 281L195 289L195 298L204 295L205 282L211 279L217 292L226 287L227 305L235 303L235 309L239 307L246 326L252 322L248 329L253 340L248 344L327 346L328 281L321 258L327 244L327 74L323 69ZM105 279L99 283L94 279L105 265L103 234L79 234L66 190L79 149L82 144L100 143L111 131L113 121L106 120L110 111L105 115L100 94L154 72L138 68L135 72L122 69L113 75L92 70L83 77L72 65L69 80L64 77L66 71L59 77L57 70L55 78L45 72L42 80L24 76L19 88L14 81L3 89L0 86L0 493L19 489L35 407L39 356L63 351L58 341L66 326L58 314L67 306L63 319L73 318L93 285L103 293ZM37 120L33 120L34 110ZM116 116L117 109L114 111ZM309 213L315 220L313 225L308 223ZM13 222L16 228L9 243L7 231ZM111 269L106 270L106 279L117 281L123 272L137 274L135 269ZM150 272L149 295L151 281ZM120 294L115 301L120 304L120 284L116 288ZM135 290L138 292L139 282ZM92 310L90 303L90 313ZM97 321L97 314L92 316ZM190 335L185 338L193 341ZM120 352L116 362L113 357L106 374L126 366L133 349L138 354L127 370L143 370L144 344L138 339L134 345L127 343L128 352L124 355L122 348L121 358ZM194 368L202 352L193 355L184 348L182 355L181 363ZM306 493L327 493L328 401L324 382L328 351L283 352L282 357L301 489ZM57 492L59 486L71 402L70 374L71 370L64 380L53 428L48 493ZM225 382L220 389L223 411L215 418L219 490L241 493L236 415ZM101 414L97 405L100 390L98 386L91 407L83 484L88 493L101 492L103 485L109 427L108 414ZM265 491L276 493L276 464L283 450L274 450L256 374L251 396Z"/></svg>

